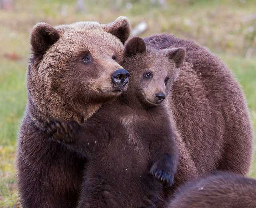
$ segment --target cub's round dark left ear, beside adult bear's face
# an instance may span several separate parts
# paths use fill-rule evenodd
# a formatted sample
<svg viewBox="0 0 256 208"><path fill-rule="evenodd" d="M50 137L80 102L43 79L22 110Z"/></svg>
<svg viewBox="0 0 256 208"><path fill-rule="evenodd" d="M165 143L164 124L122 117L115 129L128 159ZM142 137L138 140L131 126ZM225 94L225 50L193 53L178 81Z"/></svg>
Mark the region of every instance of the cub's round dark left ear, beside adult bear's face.
<svg viewBox="0 0 256 208"><path fill-rule="evenodd" d="M146 51L145 41L140 37L134 37L126 42L124 56L133 56L144 51Z"/></svg>

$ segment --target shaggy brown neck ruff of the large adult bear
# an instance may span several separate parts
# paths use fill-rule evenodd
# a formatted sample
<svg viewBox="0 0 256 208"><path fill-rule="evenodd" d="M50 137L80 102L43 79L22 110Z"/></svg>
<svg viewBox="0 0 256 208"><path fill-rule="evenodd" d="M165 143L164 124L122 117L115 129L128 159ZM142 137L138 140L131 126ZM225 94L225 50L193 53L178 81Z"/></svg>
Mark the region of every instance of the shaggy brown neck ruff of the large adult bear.
<svg viewBox="0 0 256 208"><path fill-rule="evenodd" d="M32 57L27 69L27 94L28 104L27 111L32 120L38 123L51 120L76 121L79 123L87 120L94 112L100 108L100 104L82 104L74 103L72 100L64 100L61 95L52 92L46 76L38 73L38 60ZM35 70L36 69L36 70ZM77 101L78 102L78 101Z"/></svg>

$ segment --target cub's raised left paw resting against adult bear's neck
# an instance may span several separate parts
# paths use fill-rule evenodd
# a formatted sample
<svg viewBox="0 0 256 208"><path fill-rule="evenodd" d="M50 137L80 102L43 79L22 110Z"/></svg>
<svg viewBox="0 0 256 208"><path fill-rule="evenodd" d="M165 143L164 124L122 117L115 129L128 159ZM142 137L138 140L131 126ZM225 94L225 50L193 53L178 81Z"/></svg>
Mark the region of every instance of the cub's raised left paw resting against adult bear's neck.
<svg viewBox="0 0 256 208"><path fill-rule="evenodd" d="M73 142L73 135L77 133L78 129L79 124L76 122L52 121L44 126L44 130L50 140L66 144Z"/></svg>

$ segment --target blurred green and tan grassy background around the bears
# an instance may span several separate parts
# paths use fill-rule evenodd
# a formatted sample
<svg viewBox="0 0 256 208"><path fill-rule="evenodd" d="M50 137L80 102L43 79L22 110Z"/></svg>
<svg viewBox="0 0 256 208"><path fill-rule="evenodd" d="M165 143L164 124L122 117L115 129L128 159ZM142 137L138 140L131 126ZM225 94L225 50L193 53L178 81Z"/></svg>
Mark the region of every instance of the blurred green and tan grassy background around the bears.
<svg viewBox="0 0 256 208"><path fill-rule="evenodd" d="M29 34L37 22L108 23L127 16L140 36L168 32L218 54L240 82L256 128L256 0L0 0L0 207L19 207L16 138L26 104ZM136 30L135 30L136 31ZM254 131L255 132L255 131ZM256 160L250 176L256 178Z"/></svg>

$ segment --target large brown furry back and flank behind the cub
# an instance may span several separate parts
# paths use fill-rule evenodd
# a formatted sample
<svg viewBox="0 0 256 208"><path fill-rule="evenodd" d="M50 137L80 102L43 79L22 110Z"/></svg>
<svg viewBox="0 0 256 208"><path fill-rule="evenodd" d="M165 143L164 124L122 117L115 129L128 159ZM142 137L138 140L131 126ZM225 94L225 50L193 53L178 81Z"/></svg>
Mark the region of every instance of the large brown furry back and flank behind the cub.
<svg viewBox="0 0 256 208"><path fill-rule="evenodd" d="M198 174L220 170L246 175L253 153L252 126L244 95L230 70L193 41L167 34L144 40L161 50L186 49L190 67L180 70L168 108Z"/></svg>

